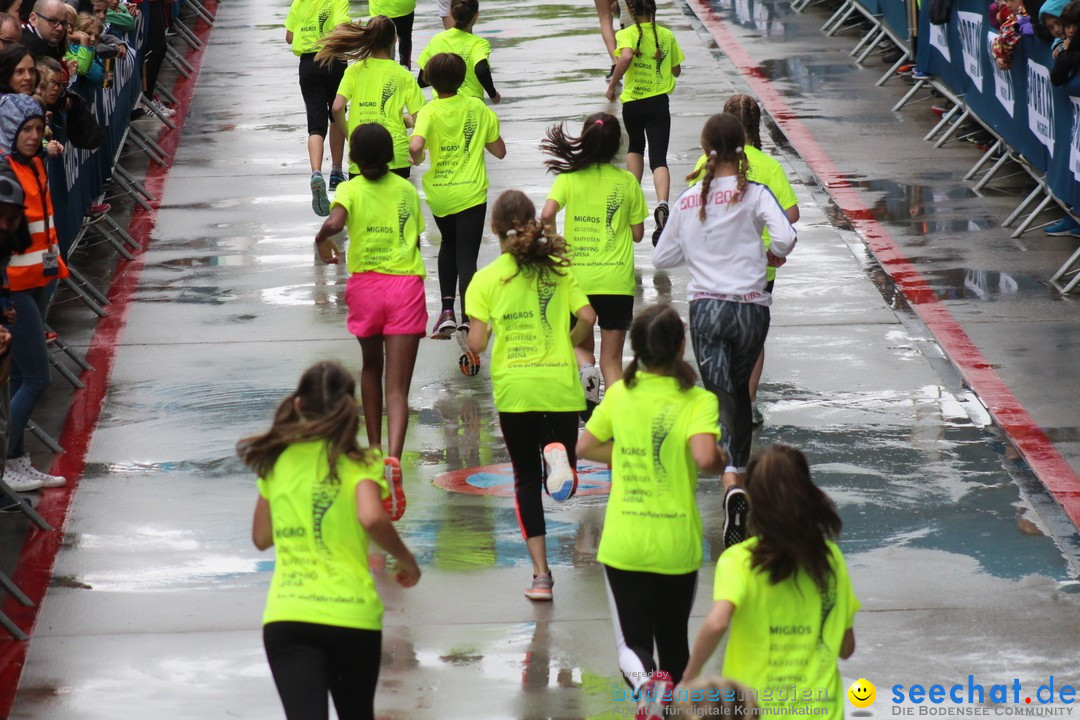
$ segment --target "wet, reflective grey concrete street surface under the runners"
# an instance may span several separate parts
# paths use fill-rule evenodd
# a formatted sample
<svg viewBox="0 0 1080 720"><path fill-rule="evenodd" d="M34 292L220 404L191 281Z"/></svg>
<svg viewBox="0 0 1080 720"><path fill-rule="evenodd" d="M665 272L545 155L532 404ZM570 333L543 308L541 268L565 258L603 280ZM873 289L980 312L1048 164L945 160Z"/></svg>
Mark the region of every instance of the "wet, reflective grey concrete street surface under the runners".
<svg viewBox="0 0 1080 720"><path fill-rule="evenodd" d="M923 173L931 152L915 139L921 127L888 131L901 142L897 153L921 158L882 151L867 167L873 138L853 140L862 131L852 126L895 123L887 109L899 85L875 91L877 73L850 70L849 45L818 35L821 21L792 16L780 3L747 8L770 28L756 52L809 68L802 80L778 72L777 81L805 104L800 112L823 118L824 137L834 138L823 144L841 155L859 154L862 144L852 174L880 193L881 212L892 216L882 219L915 227L912 218L927 214L905 216L915 196L936 208L927 221L932 233L901 236L937 258L935 286L957 294L950 307L976 341L985 328L996 342L987 353L1003 358L1001 372L1014 373L1007 380L1017 394L1045 393L1039 375L1008 361L1031 359L1021 330L1043 344L1054 325L1062 345L1072 337L1070 303L1040 296L1037 281L1026 280L1044 276L1049 253L1020 254L1001 240L983 204L1008 202L971 198L949 181L944 165L959 159ZM255 0L219 11L12 718L281 717L259 630L272 554L251 547L254 480L233 446L267 424L310 363L360 367L345 330L345 271L318 264L311 246L319 220L307 192L295 64L280 42L285 12L285 3ZM663 8L661 22L687 55L672 101L670 160L679 178L698 157L704 118L743 87L679 6ZM417 52L436 23L431 13L418 17ZM504 161L488 163L492 198L516 187L542 201L551 184L537 150L543 128L564 119L576 128L605 107L594 28L592 3L484 6L478 31L495 46L504 97L496 110L509 147ZM243 59L252 53L259 62ZM859 123L849 117L855 111ZM1076 529L1015 461L926 328L890 295L859 240L834 223L809 171L789 154L780 159L799 180L802 219L777 286L758 443L802 448L839 506L841 546L864 606L845 678L881 685L974 673L987 683L1017 677L1034 688L1067 675L1080 633ZM914 187L932 190L924 196ZM646 194L651 205L648 179ZM957 206L982 208L968 222L985 239L973 237ZM429 228L422 254L434 308L438 237ZM496 254L488 237L482 262ZM1024 262L1005 263L1012 255ZM638 305L670 300L685 315L685 272L654 272L647 247L637 261ZM969 281L968 269L982 274ZM1011 345L996 335L1002 326ZM604 497L548 505L555 601L529 603L512 500L435 485L447 473L509 460L486 369L463 378L456 357L453 343L423 342L413 382L403 458L409 505L399 527L424 576L410 590L382 583L378 715L620 717L627 704L612 699L621 680L595 561ZM1034 403L1031 411L1062 413L1048 425L1063 429L1061 445L1080 446L1068 434L1076 418L1066 422L1061 405ZM706 565L691 633L710 604L720 500L718 483L703 480ZM719 668L718 657L711 667Z"/></svg>

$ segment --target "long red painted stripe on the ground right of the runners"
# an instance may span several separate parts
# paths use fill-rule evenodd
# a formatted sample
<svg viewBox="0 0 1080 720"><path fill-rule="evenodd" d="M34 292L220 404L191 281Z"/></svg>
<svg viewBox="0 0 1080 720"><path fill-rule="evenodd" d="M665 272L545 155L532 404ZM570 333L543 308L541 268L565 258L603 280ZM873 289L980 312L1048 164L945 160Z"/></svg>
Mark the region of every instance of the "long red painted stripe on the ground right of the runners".
<svg viewBox="0 0 1080 720"><path fill-rule="evenodd" d="M889 231L879 223L858 188L840 173L833 159L818 144L783 96L772 86L746 51L739 36L711 9L705 0L687 0L720 50L731 59L757 94L766 110L783 130L792 147L818 176L843 214L862 235L877 261L904 293L919 318L959 369L969 386L989 409L995 422L1030 465L1054 499L1080 528L1080 475L1021 405L1016 396L990 367L982 351L942 303Z"/></svg>

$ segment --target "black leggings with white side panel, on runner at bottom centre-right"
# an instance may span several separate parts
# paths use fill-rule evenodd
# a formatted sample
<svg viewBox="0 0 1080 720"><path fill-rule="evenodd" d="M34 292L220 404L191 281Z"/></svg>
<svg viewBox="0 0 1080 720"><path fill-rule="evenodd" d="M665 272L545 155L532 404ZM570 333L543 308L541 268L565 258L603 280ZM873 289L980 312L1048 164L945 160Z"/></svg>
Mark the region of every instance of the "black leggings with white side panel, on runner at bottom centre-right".
<svg viewBox="0 0 1080 720"><path fill-rule="evenodd" d="M604 566L622 677L637 690L654 670L671 673L676 684L690 661L689 623L698 572L662 575ZM660 656L652 657L656 644Z"/></svg>

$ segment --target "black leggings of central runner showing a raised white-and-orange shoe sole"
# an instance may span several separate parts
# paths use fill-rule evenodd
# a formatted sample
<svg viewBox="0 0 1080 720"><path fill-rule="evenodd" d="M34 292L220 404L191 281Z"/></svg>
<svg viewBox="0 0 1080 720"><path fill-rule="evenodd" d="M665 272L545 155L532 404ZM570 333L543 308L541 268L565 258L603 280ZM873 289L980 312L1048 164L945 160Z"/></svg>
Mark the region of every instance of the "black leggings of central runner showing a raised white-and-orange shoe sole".
<svg viewBox="0 0 1080 720"><path fill-rule="evenodd" d="M528 540L548 533L543 519L543 480L548 476L543 462L543 446L562 443L577 467L573 454L578 443L578 413L569 412L500 412L502 439L514 466L514 505L522 535Z"/></svg>

